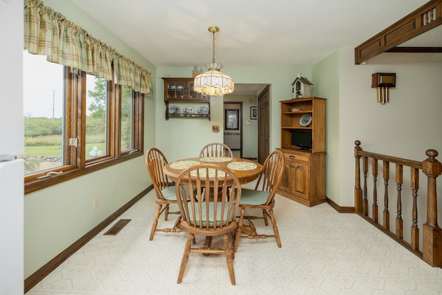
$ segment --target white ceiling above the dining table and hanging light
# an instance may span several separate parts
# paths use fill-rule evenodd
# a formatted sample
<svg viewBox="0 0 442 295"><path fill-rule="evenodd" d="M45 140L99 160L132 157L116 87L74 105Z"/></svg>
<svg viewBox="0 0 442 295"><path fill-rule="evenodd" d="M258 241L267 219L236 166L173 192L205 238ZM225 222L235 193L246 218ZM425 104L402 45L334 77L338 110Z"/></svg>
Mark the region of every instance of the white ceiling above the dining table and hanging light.
<svg viewBox="0 0 442 295"><path fill-rule="evenodd" d="M155 66L313 66L427 0L70 0ZM86 28L87 30L87 28ZM93 34L92 34L93 35ZM117 48L116 48L117 49Z"/></svg>

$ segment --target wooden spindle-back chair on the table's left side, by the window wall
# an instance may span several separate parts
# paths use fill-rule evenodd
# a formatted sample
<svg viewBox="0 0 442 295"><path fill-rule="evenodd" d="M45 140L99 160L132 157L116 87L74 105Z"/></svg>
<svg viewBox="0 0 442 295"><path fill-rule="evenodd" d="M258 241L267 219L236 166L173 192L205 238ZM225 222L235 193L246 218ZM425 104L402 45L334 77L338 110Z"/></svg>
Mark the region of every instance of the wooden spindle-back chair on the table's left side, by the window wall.
<svg viewBox="0 0 442 295"><path fill-rule="evenodd" d="M183 229L177 228L181 220L180 211L169 211L170 204L177 204L177 197L175 194L175 185L169 181L169 178L163 171L163 167L167 163L167 159L162 151L157 148L148 149L146 153L146 167L155 189L155 202L157 203L157 211L153 220L149 240L153 240L155 231L164 231L166 233L183 231ZM163 212L164 220L167 220L169 214L178 214L177 220L175 220L172 228L157 228L158 220Z"/></svg>

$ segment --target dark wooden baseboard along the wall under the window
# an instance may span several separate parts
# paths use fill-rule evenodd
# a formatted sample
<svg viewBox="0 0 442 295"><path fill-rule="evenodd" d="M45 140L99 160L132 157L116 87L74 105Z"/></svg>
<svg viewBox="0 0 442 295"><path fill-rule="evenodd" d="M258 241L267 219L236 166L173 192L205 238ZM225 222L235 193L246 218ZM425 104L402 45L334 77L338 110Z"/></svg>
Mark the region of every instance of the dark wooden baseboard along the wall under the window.
<svg viewBox="0 0 442 295"><path fill-rule="evenodd" d="M34 274L31 274L28 276L28 278L24 281L24 292L28 292L32 287L37 285L43 278L48 276L50 272L52 272L54 269L56 269L61 263L63 263L66 259L68 259L71 255L75 253L78 249L86 245L86 243L91 240L93 237L97 236L100 231L102 231L104 228L106 228L108 225L111 224L114 220L116 220L122 213L127 211L130 207L133 206L136 202L138 202L141 198L146 196L146 193L151 191L153 189L153 185L150 187L144 189L141 193L139 193L135 198L124 204L123 207L119 208L117 211L115 211L111 216L103 220L99 223L96 227L88 231L87 234L79 238L76 242L74 242L72 245L64 249L60 254L55 256L55 258L52 258L46 265L42 266L40 269L38 269Z"/></svg>

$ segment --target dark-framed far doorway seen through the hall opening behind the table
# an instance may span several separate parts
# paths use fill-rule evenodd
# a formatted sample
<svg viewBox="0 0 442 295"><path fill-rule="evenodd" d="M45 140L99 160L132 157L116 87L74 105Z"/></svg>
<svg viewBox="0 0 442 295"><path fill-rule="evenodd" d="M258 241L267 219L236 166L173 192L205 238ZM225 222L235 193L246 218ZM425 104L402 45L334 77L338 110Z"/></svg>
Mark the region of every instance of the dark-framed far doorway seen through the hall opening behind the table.
<svg viewBox="0 0 442 295"><path fill-rule="evenodd" d="M242 102L224 102L224 144L242 158Z"/></svg>

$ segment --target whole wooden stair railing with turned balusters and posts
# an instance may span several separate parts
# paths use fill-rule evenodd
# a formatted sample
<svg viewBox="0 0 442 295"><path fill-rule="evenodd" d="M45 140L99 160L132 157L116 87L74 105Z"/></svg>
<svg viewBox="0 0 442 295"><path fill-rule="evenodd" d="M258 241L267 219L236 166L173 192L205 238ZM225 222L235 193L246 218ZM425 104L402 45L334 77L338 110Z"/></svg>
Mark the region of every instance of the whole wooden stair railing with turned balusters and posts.
<svg viewBox="0 0 442 295"><path fill-rule="evenodd" d="M355 169L355 187L354 187L354 204L356 212L365 220L369 221L381 229L385 234L399 242L403 247L412 251L419 256L425 263L432 267L442 267L442 229L437 224L437 193L436 178L442 173L442 164L436 157L438 152L429 149L425 153L427 159L423 162L396 158L390 155L381 155L363 151L361 142L354 142L354 157L356 158ZM362 158L362 175L363 187L361 188L361 158ZM370 161L369 161L370 159ZM378 162L382 162L382 177L384 180L384 197L383 197L383 223L378 222ZM388 183L390 180L390 163L395 164L394 180L397 187L396 199L396 226L394 231L390 230L390 196L388 196ZM372 168L373 177L373 193L369 196L367 192L367 173L369 166ZM410 241L403 238L403 167L410 167L410 189L412 192L412 225L410 232ZM427 176L427 199L426 213L427 221L423 224L422 247L419 247L419 226L418 226L418 191L419 191L419 171ZM372 199L372 217L369 217L369 197Z"/></svg>

